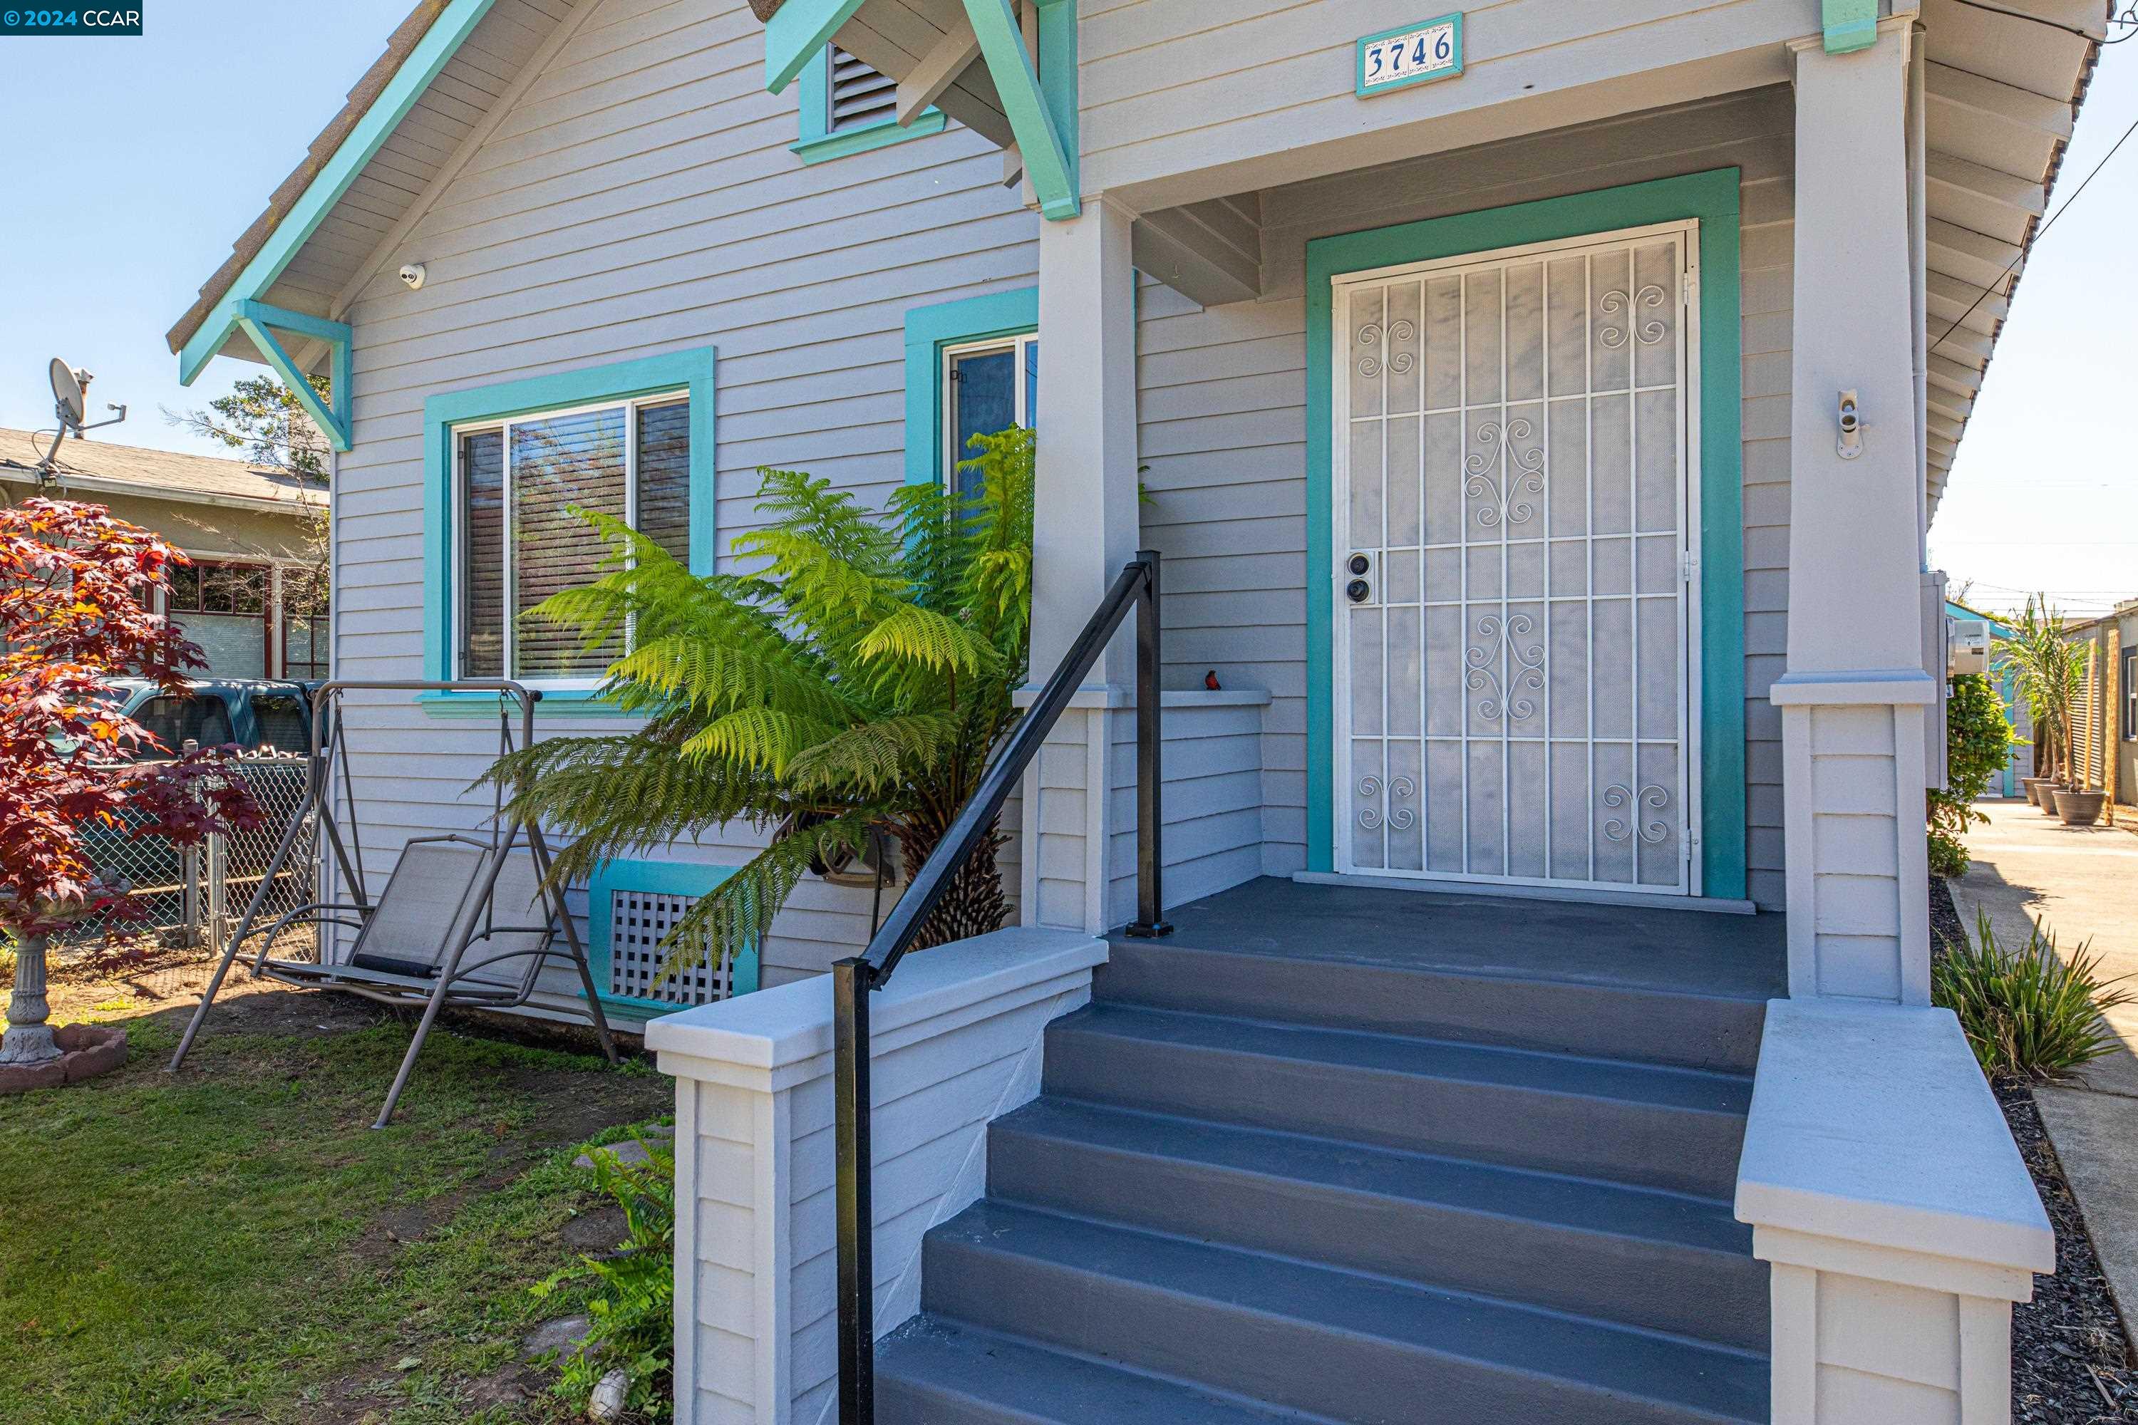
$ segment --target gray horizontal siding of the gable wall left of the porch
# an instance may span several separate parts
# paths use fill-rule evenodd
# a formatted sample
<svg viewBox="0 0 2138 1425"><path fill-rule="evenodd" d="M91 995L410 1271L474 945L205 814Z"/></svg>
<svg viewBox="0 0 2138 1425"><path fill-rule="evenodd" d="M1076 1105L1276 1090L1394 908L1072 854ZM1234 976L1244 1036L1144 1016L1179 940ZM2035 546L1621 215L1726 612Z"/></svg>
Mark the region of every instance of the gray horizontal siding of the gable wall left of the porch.
<svg viewBox="0 0 2138 1425"><path fill-rule="evenodd" d="M753 528L757 468L806 468L881 502L904 479L904 312L1037 280L1037 218L964 130L806 167L793 92L763 92L763 28L703 0L597 4L355 303L357 447L340 457L338 675L423 675L423 400L718 346L718 538ZM421 261L430 280L393 280ZM468 829L496 722L413 701L351 711L383 884L398 844ZM543 716L543 735L616 731ZM1009 814L1016 827L1016 810ZM742 861L708 833L678 857ZM1018 887L1016 844L1005 878ZM808 880L763 983L866 940L870 893Z"/></svg>

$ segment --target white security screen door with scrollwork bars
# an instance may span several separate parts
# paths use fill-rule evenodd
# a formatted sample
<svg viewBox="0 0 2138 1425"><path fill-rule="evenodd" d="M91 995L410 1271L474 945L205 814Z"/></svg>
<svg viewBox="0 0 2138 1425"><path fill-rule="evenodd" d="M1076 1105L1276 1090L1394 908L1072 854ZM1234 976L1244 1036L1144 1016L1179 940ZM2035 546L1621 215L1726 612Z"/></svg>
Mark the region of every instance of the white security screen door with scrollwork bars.
<svg viewBox="0 0 2138 1425"><path fill-rule="evenodd" d="M1695 231L1336 278L1341 872L1698 893Z"/></svg>

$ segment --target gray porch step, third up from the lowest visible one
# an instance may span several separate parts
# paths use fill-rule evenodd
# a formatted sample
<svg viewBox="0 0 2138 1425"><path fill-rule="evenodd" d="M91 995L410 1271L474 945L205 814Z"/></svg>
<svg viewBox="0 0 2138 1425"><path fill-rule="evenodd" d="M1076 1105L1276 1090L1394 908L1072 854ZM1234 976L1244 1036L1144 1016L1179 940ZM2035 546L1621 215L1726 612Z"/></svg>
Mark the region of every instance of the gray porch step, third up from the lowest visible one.
<svg viewBox="0 0 2138 1425"><path fill-rule="evenodd" d="M988 1194L1766 1350L1730 1203L1041 1098L988 1130Z"/></svg>

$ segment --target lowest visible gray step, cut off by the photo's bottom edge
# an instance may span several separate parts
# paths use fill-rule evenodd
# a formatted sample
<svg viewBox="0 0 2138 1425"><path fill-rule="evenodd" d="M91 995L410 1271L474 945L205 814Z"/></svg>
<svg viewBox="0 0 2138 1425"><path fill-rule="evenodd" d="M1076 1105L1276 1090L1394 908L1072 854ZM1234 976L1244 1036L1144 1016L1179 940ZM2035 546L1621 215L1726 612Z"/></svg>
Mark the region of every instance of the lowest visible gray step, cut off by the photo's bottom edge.
<svg viewBox="0 0 2138 1425"><path fill-rule="evenodd" d="M1308 1425L1319 1419L928 1314L877 1342L877 1425Z"/></svg>

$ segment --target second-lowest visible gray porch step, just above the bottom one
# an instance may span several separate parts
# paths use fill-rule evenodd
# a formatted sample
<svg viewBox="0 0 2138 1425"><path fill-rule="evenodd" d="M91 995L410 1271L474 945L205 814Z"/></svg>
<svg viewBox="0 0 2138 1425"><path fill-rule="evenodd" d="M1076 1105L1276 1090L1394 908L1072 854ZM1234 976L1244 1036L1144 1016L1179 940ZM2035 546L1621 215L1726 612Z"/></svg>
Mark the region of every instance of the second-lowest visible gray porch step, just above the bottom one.
<svg viewBox="0 0 2138 1425"><path fill-rule="evenodd" d="M1751 1352L996 1201L930 1231L921 1305L1362 1425L1749 1425L1768 1410Z"/></svg>

